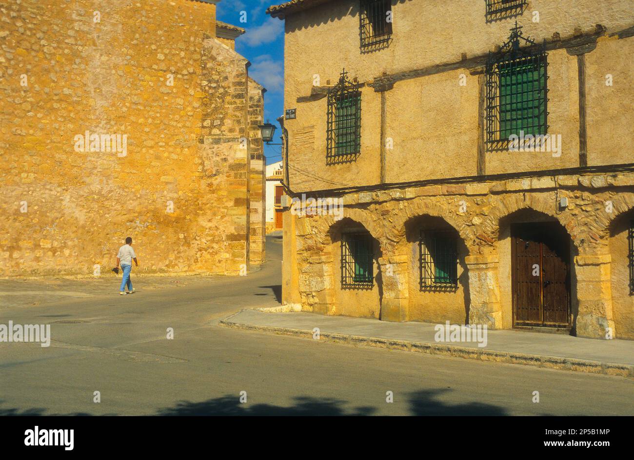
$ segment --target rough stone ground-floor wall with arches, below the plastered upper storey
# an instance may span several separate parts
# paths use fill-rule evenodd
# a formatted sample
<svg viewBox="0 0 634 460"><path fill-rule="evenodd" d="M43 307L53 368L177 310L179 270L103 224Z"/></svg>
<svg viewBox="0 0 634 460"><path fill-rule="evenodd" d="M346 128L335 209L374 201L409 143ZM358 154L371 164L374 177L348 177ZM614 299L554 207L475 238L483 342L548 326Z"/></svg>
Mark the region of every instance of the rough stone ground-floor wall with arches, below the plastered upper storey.
<svg viewBox="0 0 634 460"><path fill-rule="evenodd" d="M557 203L563 196L569 205L561 209ZM618 338L634 339L626 224L615 224L634 217L632 172L430 185L347 193L342 198L344 219L339 222L332 215L285 212L285 257L294 253L296 259L283 272L283 302L322 314L387 321L466 320L510 328L508 224L556 221L566 229L571 245L574 332L604 338L611 328ZM418 273L411 266L415 243L406 229L432 218L453 227L464 245L459 255L460 296L418 290ZM340 286L339 246L332 235L354 228L366 229L378 241L372 291L350 293ZM377 301L378 314L373 309Z"/></svg>

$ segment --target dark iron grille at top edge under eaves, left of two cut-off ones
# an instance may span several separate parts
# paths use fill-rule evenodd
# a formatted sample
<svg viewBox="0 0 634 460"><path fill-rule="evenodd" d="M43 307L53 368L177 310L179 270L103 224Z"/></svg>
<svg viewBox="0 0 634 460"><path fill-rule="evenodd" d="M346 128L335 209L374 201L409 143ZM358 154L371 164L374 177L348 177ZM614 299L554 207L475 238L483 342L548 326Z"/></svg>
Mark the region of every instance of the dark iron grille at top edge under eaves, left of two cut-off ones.
<svg viewBox="0 0 634 460"><path fill-rule="evenodd" d="M361 51L376 51L389 45L392 39L391 0L361 0L359 29Z"/></svg>

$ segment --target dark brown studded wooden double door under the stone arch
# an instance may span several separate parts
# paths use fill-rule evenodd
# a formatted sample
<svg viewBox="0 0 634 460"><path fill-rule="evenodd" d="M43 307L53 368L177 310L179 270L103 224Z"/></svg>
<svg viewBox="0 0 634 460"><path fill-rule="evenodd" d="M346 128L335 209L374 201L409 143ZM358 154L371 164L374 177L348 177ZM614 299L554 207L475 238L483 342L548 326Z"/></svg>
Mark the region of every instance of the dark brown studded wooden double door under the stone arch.
<svg viewBox="0 0 634 460"><path fill-rule="evenodd" d="M558 224L511 227L514 326L568 327L570 266L567 235Z"/></svg>

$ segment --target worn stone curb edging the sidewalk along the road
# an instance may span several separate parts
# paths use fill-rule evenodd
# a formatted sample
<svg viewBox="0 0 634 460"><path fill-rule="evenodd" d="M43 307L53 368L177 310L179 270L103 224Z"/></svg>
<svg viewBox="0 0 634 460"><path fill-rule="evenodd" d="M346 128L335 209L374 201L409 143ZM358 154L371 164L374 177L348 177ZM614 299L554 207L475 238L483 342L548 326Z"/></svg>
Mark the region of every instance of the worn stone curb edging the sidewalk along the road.
<svg viewBox="0 0 634 460"><path fill-rule="evenodd" d="M245 331L259 331L288 335L300 338L313 339L313 331L306 329L278 328L276 326L257 326L255 324L242 324L228 321L240 312L219 321L219 325L241 329ZM517 352L503 352L496 350L483 350L481 348L459 347L445 345L444 343L410 342L408 340L394 340L389 338L366 337L358 335L345 335L330 332L320 333L320 342L345 343L356 347L385 348L387 350L401 350L406 352L425 353L479 361L505 362L508 364L522 364L523 366L548 367L562 371L585 372L591 374L604 374L621 376L634 379L634 366L631 364L618 364L614 362L592 361L590 359L562 358L558 356L531 355Z"/></svg>

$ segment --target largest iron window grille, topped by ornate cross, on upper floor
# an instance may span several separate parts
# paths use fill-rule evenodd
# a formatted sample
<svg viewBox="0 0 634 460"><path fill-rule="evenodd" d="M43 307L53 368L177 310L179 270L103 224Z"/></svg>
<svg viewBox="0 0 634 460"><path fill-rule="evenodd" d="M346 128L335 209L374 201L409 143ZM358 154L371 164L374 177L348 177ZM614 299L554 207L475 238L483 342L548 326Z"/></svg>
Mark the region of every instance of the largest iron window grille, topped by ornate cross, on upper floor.
<svg viewBox="0 0 634 460"><path fill-rule="evenodd" d="M509 136L545 136L548 132L547 53L522 36L515 23L498 53L486 63L486 143L488 150L508 148ZM520 48L521 42L527 44Z"/></svg>

